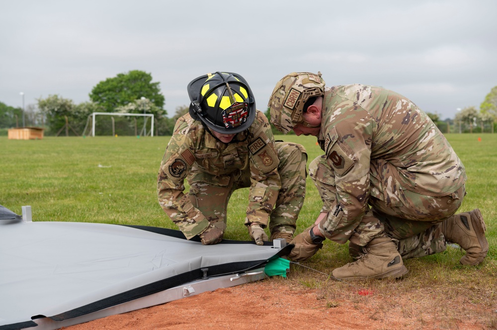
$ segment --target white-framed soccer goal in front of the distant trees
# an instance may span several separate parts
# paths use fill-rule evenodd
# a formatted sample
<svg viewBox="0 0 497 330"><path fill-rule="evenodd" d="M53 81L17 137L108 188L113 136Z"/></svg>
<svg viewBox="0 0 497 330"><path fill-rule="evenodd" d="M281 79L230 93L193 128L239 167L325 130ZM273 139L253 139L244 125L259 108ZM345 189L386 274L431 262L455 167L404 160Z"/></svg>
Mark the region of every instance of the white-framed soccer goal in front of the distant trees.
<svg viewBox="0 0 497 330"><path fill-rule="evenodd" d="M91 125L88 125L90 121ZM83 136L87 130L88 135L91 136L110 134L154 136L154 114L93 112L86 120Z"/></svg>

